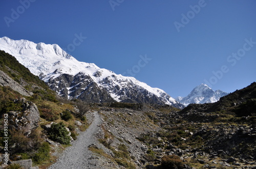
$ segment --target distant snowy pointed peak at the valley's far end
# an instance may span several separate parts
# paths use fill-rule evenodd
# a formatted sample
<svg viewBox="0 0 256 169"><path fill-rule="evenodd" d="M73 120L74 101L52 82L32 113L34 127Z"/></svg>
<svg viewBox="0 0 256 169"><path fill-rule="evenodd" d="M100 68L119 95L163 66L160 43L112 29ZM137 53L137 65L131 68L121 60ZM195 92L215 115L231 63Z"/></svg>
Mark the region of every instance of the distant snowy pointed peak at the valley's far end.
<svg viewBox="0 0 256 169"><path fill-rule="evenodd" d="M205 84L194 88L186 97L177 97L176 100L187 106L190 103L214 103L228 93L221 90L212 90Z"/></svg>

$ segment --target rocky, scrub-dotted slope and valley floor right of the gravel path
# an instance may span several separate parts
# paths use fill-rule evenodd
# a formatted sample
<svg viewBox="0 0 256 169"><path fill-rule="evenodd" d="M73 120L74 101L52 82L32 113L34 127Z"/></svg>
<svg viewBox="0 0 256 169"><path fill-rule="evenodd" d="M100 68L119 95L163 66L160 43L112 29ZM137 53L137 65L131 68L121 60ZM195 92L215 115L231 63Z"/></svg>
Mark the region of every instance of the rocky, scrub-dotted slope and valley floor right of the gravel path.
<svg viewBox="0 0 256 169"><path fill-rule="evenodd" d="M109 150L92 151L125 168L256 168L255 92L253 82L218 102L190 104L182 110L128 103L91 105L101 112L98 138Z"/></svg>

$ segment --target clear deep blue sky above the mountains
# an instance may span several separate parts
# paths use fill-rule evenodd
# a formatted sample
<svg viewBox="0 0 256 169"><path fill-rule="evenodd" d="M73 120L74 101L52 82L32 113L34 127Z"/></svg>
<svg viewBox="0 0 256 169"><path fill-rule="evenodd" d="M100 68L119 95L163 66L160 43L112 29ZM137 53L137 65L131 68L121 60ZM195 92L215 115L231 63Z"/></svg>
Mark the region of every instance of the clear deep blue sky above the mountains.
<svg viewBox="0 0 256 169"><path fill-rule="evenodd" d="M256 81L255 9L254 0L1 1L0 37L68 47L79 61L131 69L172 97L207 81L233 92ZM74 43L76 35L87 38Z"/></svg>

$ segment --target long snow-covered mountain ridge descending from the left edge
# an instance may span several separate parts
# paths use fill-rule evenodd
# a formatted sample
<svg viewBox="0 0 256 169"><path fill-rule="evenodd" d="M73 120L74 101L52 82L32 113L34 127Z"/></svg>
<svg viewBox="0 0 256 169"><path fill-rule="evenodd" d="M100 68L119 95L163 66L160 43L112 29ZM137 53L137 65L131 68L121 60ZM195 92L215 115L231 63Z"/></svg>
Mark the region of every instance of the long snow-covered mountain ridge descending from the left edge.
<svg viewBox="0 0 256 169"><path fill-rule="evenodd" d="M57 44L0 38L0 49L46 81L68 99L88 102L137 102L184 106L163 90L152 88L134 77L126 77L93 63L79 62Z"/></svg>

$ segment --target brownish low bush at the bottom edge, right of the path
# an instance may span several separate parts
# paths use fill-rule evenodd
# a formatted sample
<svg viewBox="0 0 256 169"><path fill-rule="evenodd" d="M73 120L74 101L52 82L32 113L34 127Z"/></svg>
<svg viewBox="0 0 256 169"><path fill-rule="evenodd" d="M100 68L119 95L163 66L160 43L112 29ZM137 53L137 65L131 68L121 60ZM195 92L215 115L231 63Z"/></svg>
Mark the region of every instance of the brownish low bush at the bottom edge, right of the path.
<svg viewBox="0 0 256 169"><path fill-rule="evenodd" d="M179 156L168 155L163 156L161 160L161 167L164 168L183 168L184 164Z"/></svg>

